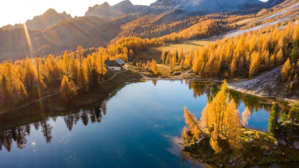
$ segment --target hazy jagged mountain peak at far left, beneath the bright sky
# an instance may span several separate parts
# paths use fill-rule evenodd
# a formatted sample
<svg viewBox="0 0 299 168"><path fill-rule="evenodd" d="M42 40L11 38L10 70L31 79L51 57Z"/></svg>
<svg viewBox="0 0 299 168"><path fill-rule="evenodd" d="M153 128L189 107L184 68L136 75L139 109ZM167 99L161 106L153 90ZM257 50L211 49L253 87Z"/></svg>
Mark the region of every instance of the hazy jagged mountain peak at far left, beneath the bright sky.
<svg viewBox="0 0 299 168"><path fill-rule="evenodd" d="M48 9L45 13L39 16L34 16L33 19L27 20L25 23L27 25L27 28L29 29L39 29L39 30L45 30L46 28L54 25L57 22L60 22L65 19L72 19L70 14L67 14L65 12L63 13L57 13L54 9ZM22 28L23 24L15 24L12 25L6 25L3 26L2 29L12 29L12 28Z"/></svg>

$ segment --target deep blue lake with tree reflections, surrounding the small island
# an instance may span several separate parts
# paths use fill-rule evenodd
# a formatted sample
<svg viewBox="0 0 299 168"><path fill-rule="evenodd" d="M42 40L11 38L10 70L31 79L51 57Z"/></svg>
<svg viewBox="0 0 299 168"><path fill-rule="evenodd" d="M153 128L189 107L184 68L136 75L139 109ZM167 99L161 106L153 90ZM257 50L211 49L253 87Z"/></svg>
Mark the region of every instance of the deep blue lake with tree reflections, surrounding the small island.
<svg viewBox="0 0 299 168"><path fill-rule="evenodd" d="M1 130L0 167L210 167L176 143L184 106L199 120L217 84L198 81L131 83L104 103ZM248 127L267 131L271 101L229 91Z"/></svg>

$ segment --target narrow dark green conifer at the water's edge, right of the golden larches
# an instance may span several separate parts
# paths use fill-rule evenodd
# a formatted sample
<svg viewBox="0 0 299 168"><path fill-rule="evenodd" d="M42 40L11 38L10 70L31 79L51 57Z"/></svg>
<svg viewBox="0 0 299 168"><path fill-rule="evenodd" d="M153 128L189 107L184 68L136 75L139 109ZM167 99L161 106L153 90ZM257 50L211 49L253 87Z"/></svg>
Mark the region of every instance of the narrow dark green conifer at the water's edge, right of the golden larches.
<svg viewBox="0 0 299 168"><path fill-rule="evenodd" d="M278 118L279 118L279 112L280 112L280 107L278 103L274 103L271 107L270 110L270 116L269 116L269 124L268 124L268 131L275 135L277 131L277 126L278 126Z"/></svg>

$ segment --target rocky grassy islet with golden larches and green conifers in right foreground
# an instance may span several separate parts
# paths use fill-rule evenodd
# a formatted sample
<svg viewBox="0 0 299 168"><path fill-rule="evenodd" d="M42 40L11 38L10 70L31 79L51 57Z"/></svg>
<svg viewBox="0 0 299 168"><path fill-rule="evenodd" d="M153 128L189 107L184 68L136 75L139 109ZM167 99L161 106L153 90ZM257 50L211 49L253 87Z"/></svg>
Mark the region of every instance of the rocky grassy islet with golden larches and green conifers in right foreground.
<svg viewBox="0 0 299 168"><path fill-rule="evenodd" d="M283 114L278 103L273 103L269 133L247 128L249 116L248 108L240 116L224 80L216 96L209 97L199 121L184 108L187 126L181 135L184 139L182 150L199 162L217 167L299 161L299 103Z"/></svg>

